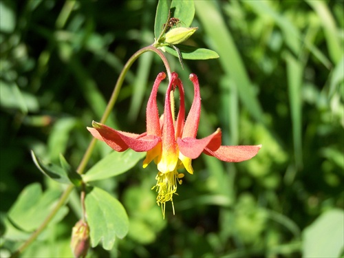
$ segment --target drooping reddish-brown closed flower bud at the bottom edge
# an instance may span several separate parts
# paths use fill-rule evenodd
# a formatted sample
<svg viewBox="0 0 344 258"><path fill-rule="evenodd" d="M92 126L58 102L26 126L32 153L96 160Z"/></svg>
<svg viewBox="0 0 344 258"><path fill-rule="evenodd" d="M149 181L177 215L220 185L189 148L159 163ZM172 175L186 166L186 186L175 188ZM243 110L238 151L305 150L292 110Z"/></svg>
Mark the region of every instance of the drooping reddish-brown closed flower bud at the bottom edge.
<svg viewBox="0 0 344 258"><path fill-rule="evenodd" d="M72 230L72 241L70 244L74 257L84 258L89 250L89 226L83 219L76 222Z"/></svg>

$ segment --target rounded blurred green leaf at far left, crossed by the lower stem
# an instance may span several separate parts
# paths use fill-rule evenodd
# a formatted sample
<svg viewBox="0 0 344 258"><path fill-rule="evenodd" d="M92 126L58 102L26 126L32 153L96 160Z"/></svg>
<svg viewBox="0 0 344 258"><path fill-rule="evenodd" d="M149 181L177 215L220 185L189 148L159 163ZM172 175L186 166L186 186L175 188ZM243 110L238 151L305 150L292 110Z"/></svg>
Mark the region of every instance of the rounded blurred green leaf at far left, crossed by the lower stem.
<svg viewBox="0 0 344 258"><path fill-rule="evenodd" d="M10 208L8 217L17 228L32 232L41 225L52 211L60 196L61 191L48 189L43 193L40 184L30 184L21 191L17 201ZM59 222L67 212L68 208L63 206L50 223Z"/></svg>

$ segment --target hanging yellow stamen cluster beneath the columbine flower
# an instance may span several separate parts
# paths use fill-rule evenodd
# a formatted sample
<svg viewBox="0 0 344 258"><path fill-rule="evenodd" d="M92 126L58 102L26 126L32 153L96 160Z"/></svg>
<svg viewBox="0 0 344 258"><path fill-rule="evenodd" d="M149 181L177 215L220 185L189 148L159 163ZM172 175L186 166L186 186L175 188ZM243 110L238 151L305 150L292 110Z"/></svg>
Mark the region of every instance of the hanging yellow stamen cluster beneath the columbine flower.
<svg viewBox="0 0 344 258"><path fill-rule="evenodd" d="M177 191L177 182L179 184L182 184L181 178L184 178L183 173L178 173L177 169L174 171L168 172L168 173L161 173L158 172L158 175L156 175L155 179L158 181L155 186L153 186L152 190L155 189L155 191L158 192L158 197L156 197L156 202L160 206L161 204L161 210L162 214L165 217L165 204L166 202L171 201L172 202L172 208L173 208L173 215L174 215L174 206L173 206L173 194Z"/></svg>

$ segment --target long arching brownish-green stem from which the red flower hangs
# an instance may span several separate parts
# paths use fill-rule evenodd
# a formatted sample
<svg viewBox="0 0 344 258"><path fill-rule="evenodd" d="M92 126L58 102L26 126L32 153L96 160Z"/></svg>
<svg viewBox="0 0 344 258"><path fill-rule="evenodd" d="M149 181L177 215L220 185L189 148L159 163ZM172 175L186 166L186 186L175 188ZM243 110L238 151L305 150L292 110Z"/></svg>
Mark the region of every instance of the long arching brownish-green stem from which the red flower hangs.
<svg viewBox="0 0 344 258"><path fill-rule="evenodd" d="M107 107L104 111L103 117L100 120L101 123L104 123L107 120L107 118L109 117L109 114L110 114L112 108L114 107L114 105L116 103L116 100L118 98L118 94L120 93L120 88L122 87L122 83L125 79L125 75L129 71L129 68L131 67L133 62L136 61L136 59L141 54L143 54L144 52L148 52L148 51L155 52L156 54L158 54L160 56L160 58L162 59L162 62L164 63L164 66L166 67L167 76L169 77L169 79L171 78L171 68L169 67L169 63L168 63L166 57L164 56L164 54L162 54L162 52L160 50L158 50L156 47L153 47L151 45L149 45L148 47L143 47L141 50L138 50L138 52L136 52L135 54L133 54L133 56L131 56L131 58L129 58L129 60L127 61L127 63L123 67L122 72L120 73L120 76L118 77L118 80L117 80L116 85L114 87L114 92L112 92L109 103L107 104ZM76 171L78 171L78 173L80 175L84 173L87 162L89 161L89 158L91 158L91 154L92 154L92 151L94 150L95 145L96 145L96 138L92 138L91 142L89 143L89 146L87 147L87 150L85 151L85 154L83 155L83 159L80 161L78 169L76 169ZM21 254L21 252L23 252L23 250L25 250L25 248L30 246L30 244L32 244L32 242L39 236L39 234L41 234L41 232L44 230L44 228L47 226L47 224L49 224L49 222L52 220L52 218L56 215L56 213L61 208L61 206L63 206L63 204L65 204L67 197L69 196L69 194L72 192L73 189L74 189L73 184L69 185L67 187L67 189L65 189L60 200L58 200L58 203L56 204L55 208L46 217L46 219L41 224L41 226L39 226L39 228L37 228L37 230L24 242L24 244L22 246L20 246L16 252L14 252L12 254L11 258L18 257ZM84 191L84 190L82 190L82 191ZM85 194L85 193L82 193L81 196L83 196L83 194ZM84 205L84 203L83 203L84 200L85 200L85 198L82 197L82 205Z"/></svg>

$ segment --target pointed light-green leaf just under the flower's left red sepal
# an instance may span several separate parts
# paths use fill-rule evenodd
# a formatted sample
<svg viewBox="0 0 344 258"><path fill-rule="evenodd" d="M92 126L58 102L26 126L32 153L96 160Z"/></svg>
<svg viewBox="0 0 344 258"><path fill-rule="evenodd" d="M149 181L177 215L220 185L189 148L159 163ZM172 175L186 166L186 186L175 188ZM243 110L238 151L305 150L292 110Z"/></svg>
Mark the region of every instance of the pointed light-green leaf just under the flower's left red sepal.
<svg viewBox="0 0 344 258"><path fill-rule="evenodd" d="M103 160L92 166L83 176L85 182L103 180L115 175L125 173L138 163L146 155L144 152L136 152L131 149L124 152L113 151Z"/></svg>

